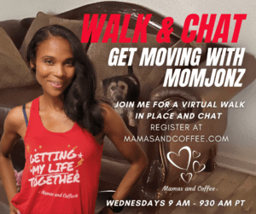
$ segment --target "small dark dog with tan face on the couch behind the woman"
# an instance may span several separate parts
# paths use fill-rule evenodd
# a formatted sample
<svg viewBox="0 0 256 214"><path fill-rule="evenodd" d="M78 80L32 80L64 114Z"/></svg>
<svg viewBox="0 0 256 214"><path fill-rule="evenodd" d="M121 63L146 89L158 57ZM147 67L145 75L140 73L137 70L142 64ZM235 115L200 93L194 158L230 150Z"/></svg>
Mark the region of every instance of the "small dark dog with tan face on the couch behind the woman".
<svg viewBox="0 0 256 214"><path fill-rule="evenodd" d="M140 95L140 83L133 73L132 66L128 66L128 74L105 78L102 84L104 95L110 99L114 110L119 113L126 123L128 122L127 124L136 126L134 115ZM135 107L115 107L117 102L120 101L134 101Z"/></svg>

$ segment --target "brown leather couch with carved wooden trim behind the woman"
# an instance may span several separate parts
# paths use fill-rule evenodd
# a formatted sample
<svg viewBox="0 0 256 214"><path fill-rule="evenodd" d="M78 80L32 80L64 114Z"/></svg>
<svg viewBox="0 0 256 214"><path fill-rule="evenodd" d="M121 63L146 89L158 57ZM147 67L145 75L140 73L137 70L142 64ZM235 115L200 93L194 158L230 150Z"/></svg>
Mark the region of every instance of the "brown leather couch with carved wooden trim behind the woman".
<svg viewBox="0 0 256 214"><path fill-rule="evenodd" d="M162 67L139 67L138 59L144 47L152 48L196 48L199 47L206 55L209 47L226 47L218 43L183 43L180 40L182 27L173 25L173 33L171 35L172 43L156 43L156 33L159 31L161 21L165 18L161 14L155 13L153 10L143 8L131 3L118 2L102 2L84 5L78 9L72 9L65 13L55 14L59 19L80 20L84 19L84 14L121 14L121 22L124 14L131 14L131 22L129 31L132 34L137 14L153 14L151 22L148 24L148 43L84 43L84 50L87 51L91 61L94 63L97 72L98 85L97 94L104 95L102 80L113 78L115 76L125 75L129 69L125 67L108 67L108 54L113 47L136 47L138 49L134 64L132 65L133 73L136 75L140 83L140 95L138 101L163 101L171 104L169 107L141 107L137 109L137 113L165 113L171 111L175 115L178 113L222 113L220 119L137 119L136 125L128 125L131 132L135 136L223 136L227 124L228 108L219 107L220 101L229 101L239 91L251 84L256 78L256 61L252 55L245 54L242 67L247 69L244 75L241 88L231 87L163 87L163 78L166 74L165 66ZM42 15L42 14L40 14ZM23 20L5 20L0 22L0 27L9 35L9 38L15 43L17 49L24 46L24 39L27 32L32 26L35 18L25 18ZM53 20L54 23L55 20ZM74 23L76 25L77 23ZM73 25L73 24L72 24ZM23 55L24 59L24 52ZM205 58L201 58L201 63L195 68L206 67ZM231 66L230 66L231 67ZM181 67L184 68L184 67ZM218 67L217 67L218 68ZM224 67L227 68L227 67ZM28 101L32 101L43 92L41 87L34 83L26 86L8 87L0 90L0 136L3 134L3 121L13 107L22 105ZM183 107L183 101L216 101L217 106L214 107ZM177 103L177 107L173 107L173 103ZM201 130L151 130L152 124L189 124L190 127L202 124ZM144 173L137 187L132 191L131 197L139 199L165 199L170 196L167 191L162 191L165 186L179 187L188 180L181 179L181 171L172 165L167 158L167 153L178 153L181 148L189 146L191 152L195 151L197 157L198 171L205 165L205 170L212 171L214 169L214 157L217 152L217 142L139 142L143 150L148 155L148 169ZM24 144L22 139L15 144L15 148L11 153L13 164L17 171L23 169L25 165ZM193 153L194 154L194 153ZM175 155L174 155L175 156ZM174 162L180 163L180 167L185 167L188 159L176 155ZM120 155L119 151L105 139L102 154L102 172L100 176L99 191L115 189L129 168L129 163ZM193 165L189 165L187 172L195 174ZM188 176L185 175L185 176ZM183 177L184 178L184 177ZM188 177L187 177L188 178Z"/></svg>

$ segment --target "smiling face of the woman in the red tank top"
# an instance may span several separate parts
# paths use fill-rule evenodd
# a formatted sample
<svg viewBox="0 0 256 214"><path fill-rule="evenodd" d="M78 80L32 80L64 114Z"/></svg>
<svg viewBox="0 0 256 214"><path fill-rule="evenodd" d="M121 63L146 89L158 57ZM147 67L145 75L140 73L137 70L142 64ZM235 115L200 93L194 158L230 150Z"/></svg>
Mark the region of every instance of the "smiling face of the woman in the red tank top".
<svg viewBox="0 0 256 214"><path fill-rule="evenodd" d="M31 63L32 66L32 63ZM73 53L67 39L50 36L37 50L36 78L44 94L60 96L75 74Z"/></svg>

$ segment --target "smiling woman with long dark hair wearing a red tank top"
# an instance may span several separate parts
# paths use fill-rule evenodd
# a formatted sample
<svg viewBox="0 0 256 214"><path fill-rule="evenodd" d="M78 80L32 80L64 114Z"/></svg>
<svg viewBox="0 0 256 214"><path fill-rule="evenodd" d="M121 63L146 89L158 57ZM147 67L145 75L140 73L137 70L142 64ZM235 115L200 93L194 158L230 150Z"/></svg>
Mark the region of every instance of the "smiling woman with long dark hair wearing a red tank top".
<svg viewBox="0 0 256 214"><path fill-rule="evenodd" d="M79 38L65 27L46 26L32 38L26 58L44 95L5 119L0 176L10 213L94 213L104 136L131 163L113 194L113 200L124 200L148 159L137 143L124 142L131 132L119 115L96 100L96 74ZM9 153L20 137L26 166L17 194ZM104 207L102 213L113 211Z"/></svg>

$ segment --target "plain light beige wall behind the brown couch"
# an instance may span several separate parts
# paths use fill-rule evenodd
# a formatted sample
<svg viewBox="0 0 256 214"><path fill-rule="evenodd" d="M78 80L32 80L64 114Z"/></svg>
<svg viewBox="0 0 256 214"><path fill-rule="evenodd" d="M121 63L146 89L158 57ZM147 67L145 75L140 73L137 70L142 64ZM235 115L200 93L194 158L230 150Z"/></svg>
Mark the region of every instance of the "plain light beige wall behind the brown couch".
<svg viewBox="0 0 256 214"><path fill-rule="evenodd" d="M6 1L0 0L1 13L0 20L22 19L25 17L34 17L38 11L44 13L61 13L70 9L83 6L88 3L100 1L93 0L23 0ZM121 2L121 1L120 1ZM125 1L124 1L125 2ZM128 1L126 1L128 2ZM129 3L138 3L137 0L130 0ZM140 4L148 9L154 9L160 14L172 16L174 20L183 26L183 21L188 14L247 14L247 20L241 25L241 33L238 43L229 43L233 47L245 47L247 52L256 56L256 27L254 0L141 0ZM218 20L217 17L217 20ZM235 21L231 21L230 36L234 30ZM230 37L231 38L231 37ZM230 39L229 39L230 41ZM255 81L246 90L233 98L233 101L246 101L245 108L230 109L228 127L225 135L230 137L230 143L219 143L218 165L234 169L236 171L245 171L256 175L256 84Z"/></svg>

